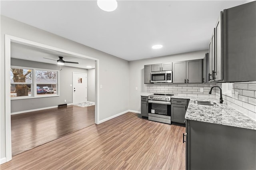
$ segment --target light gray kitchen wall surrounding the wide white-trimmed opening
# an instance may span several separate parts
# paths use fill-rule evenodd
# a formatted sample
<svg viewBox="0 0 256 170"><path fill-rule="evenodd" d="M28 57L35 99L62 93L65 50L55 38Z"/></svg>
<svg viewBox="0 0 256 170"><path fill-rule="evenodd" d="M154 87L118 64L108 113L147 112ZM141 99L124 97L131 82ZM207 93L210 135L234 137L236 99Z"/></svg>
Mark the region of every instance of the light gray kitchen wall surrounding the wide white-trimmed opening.
<svg viewBox="0 0 256 170"><path fill-rule="evenodd" d="M5 103L4 103L4 34L65 49L99 59L99 120L103 120L129 109L129 62L113 55L73 42L55 34L29 26L22 22L1 16L1 57L0 57L0 158L5 157ZM124 79L124 75L127 77ZM122 100L120 100L122 94Z"/></svg>

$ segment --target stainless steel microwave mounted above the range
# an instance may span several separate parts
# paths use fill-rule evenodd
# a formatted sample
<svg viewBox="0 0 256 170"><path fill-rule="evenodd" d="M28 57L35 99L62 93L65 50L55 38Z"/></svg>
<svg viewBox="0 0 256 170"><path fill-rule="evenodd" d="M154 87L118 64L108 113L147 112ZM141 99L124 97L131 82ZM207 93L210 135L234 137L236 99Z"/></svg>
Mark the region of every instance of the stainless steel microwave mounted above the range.
<svg viewBox="0 0 256 170"><path fill-rule="evenodd" d="M151 72L151 83L172 83L172 71Z"/></svg>

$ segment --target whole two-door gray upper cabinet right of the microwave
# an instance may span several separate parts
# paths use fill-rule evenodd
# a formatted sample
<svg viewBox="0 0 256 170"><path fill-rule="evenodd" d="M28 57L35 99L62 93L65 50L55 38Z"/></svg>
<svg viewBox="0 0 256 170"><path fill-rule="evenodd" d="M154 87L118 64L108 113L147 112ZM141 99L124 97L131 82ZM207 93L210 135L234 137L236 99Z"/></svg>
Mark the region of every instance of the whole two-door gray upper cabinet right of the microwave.
<svg viewBox="0 0 256 170"><path fill-rule="evenodd" d="M173 62L173 83L202 83L202 59Z"/></svg>

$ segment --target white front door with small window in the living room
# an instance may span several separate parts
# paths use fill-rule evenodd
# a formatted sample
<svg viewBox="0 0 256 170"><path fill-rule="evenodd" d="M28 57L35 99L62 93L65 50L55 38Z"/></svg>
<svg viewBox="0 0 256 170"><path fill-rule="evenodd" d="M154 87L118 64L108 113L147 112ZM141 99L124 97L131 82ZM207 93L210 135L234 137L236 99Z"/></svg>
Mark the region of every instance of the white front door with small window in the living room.
<svg viewBox="0 0 256 170"><path fill-rule="evenodd" d="M73 72L73 104L87 102L87 73Z"/></svg>

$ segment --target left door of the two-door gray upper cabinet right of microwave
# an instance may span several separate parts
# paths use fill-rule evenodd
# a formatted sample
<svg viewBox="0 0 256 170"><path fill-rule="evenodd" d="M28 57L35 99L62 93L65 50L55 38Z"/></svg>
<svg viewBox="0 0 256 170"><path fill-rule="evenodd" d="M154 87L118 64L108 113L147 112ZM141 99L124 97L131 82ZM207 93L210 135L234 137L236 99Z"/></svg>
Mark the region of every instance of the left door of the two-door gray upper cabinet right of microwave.
<svg viewBox="0 0 256 170"><path fill-rule="evenodd" d="M175 61L172 64L172 83L186 83L186 61Z"/></svg>

